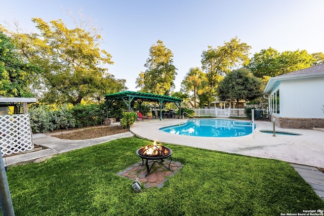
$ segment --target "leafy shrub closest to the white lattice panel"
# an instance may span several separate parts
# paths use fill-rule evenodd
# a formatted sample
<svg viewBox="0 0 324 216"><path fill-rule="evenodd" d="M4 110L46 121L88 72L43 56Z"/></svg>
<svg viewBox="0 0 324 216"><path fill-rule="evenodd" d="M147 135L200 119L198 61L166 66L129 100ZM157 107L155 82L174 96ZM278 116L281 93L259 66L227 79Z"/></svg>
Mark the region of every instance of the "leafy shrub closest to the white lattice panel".
<svg viewBox="0 0 324 216"><path fill-rule="evenodd" d="M46 106L31 107L29 109L30 127L33 133L47 133L53 131L53 113Z"/></svg>

